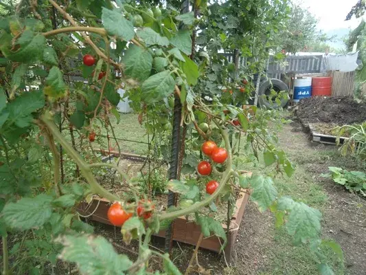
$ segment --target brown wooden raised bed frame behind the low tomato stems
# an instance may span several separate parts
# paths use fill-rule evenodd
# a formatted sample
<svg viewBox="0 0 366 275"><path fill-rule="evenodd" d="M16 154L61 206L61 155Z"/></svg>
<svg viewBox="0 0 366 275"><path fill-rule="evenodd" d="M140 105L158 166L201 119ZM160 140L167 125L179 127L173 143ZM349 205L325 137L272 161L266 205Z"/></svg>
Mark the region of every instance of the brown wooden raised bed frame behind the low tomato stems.
<svg viewBox="0 0 366 275"><path fill-rule="evenodd" d="M247 192L240 192L236 201L236 212L231 218L229 238L225 247L225 256L228 262L231 259L233 245L236 242L236 236L244 216L244 210L247 206L248 199L249 195ZM90 204L87 202L80 203L78 206L78 212L85 216L90 215L89 219L92 219L93 221L99 221L101 223L111 225L107 217L109 206L111 206L111 201L108 201L107 199L94 198ZM185 219L185 217L179 217L175 219L173 228L172 238L174 241L180 241L182 243L188 243L191 245L196 245L201 234L201 226L197 225L194 221L188 221ZM222 224L222 228L227 230L227 225ZM161 230L158 234L155 234L155 236L164 238L165 230ZM214 252L220 252L221 243L222 240L219 240L217 236L210 236L203 239L201 242L201 248L205 248Z"/></svg>

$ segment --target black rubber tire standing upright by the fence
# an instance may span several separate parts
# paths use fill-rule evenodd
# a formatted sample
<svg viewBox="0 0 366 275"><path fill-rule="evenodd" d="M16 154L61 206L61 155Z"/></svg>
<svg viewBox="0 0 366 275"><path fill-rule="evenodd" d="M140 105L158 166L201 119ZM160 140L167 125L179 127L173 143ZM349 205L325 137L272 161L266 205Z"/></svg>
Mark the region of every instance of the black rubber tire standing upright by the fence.
<svg viewBox="0 0 366 275"><path fill-rule="evenodd" d="M281 104L277 104L277 102L269 102L266 98L264 98L262 95L268 94L271 92L271 88L273 88L275 91L286 91L288 94L288 87L286 83L283 81L277 79L277 78L271 78L268 80L263 81L260 83L260 89L258 91L258 102L260 104L260 107L266 107L267 109L277 109L279 107L286 107L288 104L288 98L282 98Z"/></svg>

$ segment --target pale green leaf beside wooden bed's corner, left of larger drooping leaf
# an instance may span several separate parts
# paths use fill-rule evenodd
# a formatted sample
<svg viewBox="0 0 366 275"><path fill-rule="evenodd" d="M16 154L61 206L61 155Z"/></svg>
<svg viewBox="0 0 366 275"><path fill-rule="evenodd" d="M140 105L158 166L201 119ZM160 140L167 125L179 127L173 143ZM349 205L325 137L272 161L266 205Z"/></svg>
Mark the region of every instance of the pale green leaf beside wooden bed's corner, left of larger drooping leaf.
<svg viewBox="0 0 366 275"><path fill-rule="evenodd" d="M251 199L258 204L261 212L271 206L277 197L277 190L271 177L263 177L262 175L251 177L251 187L253 188Z"/></svg>

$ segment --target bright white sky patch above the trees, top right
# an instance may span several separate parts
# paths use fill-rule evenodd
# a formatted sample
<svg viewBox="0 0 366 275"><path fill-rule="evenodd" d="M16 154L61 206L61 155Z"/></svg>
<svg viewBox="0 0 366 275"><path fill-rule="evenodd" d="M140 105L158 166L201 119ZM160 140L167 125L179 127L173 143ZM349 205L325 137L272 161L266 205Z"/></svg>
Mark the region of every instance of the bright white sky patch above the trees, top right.
<svg viewBox="0 0 366 275"><path fill-rule="evenodd" d="M355 17L345 21L345 17L357 0L302 0L301 2L304 8L308 8L319 19L319 30L354 29L361 21Z"/></svg>

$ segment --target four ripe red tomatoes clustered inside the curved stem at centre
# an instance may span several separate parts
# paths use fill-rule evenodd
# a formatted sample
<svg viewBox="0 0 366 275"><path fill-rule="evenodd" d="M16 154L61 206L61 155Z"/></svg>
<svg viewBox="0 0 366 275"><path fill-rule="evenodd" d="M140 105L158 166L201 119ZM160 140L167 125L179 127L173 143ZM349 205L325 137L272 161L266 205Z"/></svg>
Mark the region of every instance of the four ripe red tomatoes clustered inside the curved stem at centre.
<svg viewBox="0 0 366 275"><path fill-rule="evenodd" d="M227 151L224 148L220 148L216 145L215 142L208 140L207 142L202 144L201 147L202 153L207 155L212 159L213 162L218 164L222 164L227 159ZM197 166L198 173L203 176L208 176L211 174L212 167L209 162L203 160ZM218 182L211 180L206 184L206 192L209 195L212 195L216 188L218 188Z"/></svg>

